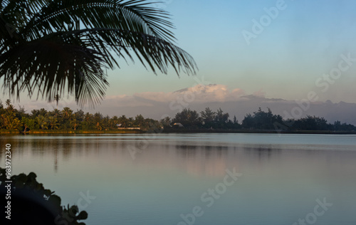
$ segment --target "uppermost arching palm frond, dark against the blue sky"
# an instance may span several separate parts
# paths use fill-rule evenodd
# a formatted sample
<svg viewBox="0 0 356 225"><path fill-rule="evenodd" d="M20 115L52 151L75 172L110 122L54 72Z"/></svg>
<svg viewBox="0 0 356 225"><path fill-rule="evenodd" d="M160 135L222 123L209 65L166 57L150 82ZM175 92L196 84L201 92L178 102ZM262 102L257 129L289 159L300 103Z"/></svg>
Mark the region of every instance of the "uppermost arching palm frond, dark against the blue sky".
<svg viewBox="0 0 356 225"><path fill-rule="evenodd" d="M41 35L79 21L85 28L115 28L174 40L169 14L145 0L57 0L33 16L23 33Z"/></svg>

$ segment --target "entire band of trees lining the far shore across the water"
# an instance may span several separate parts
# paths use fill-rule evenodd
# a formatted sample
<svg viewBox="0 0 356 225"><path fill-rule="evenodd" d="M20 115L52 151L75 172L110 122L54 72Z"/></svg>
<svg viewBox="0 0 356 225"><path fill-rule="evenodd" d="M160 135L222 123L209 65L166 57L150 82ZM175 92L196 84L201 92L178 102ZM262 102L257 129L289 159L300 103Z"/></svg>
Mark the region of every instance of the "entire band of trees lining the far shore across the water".
<svg viewBox="0 0 356 225"><path fill-rule="evenodd" d="M77 110L74 112L68 107L62 110L47 111L31 110L27 113L23 107L14 108L10 100L6 100L4 106L0 101L0 129L6 132L80 132L80 131L117 131L118 129L130 129L140 127L142 131L164 130L286 130L286 131L355 131L354 125L336 121L328 123L323 117L306 116L298 120L283 120L281 115L273 115L268 108L267 112L258 109L253 114L247 114L241 123L236 119L229 119L229 113L219 108L216 112L206 108L200 113L196 110L185 108L175 117L165 117L162 120L153 120L137 115L135 118L125 115L103 116L100 112L90 114Z"/></svg>

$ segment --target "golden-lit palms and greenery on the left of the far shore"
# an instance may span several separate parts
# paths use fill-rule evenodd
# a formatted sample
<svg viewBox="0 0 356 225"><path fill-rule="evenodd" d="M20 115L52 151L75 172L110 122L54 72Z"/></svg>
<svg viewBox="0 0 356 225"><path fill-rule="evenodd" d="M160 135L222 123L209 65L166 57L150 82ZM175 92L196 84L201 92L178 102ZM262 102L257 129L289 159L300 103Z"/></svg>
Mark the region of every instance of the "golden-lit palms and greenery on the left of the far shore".
<svg viewBox="0 0 356 225"><path fill-rule="evenodd" d="M100 112L91 114L77 110L74 112L68 107L63 110L53 109L51 111L41 108L31 110L27 113L23 107L14 108L10 100L6 100L6 107L0 102L0 129L19 130L22 132L33 130L95 130L110 131L117 130L119 127L140 127L141 130L155 130L159 127L157 120L145 118L137 115L135 118L108 115L104 116Z"/></svg>

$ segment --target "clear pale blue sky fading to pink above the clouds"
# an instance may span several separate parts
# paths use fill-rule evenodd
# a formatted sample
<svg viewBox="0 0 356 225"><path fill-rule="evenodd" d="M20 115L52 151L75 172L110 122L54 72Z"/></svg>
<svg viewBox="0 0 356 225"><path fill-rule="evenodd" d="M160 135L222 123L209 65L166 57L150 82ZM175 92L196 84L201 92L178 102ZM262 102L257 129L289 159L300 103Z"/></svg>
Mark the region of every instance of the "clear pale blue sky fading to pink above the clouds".
<svg viewBox="0 0 356 225"><path fill-rule="evenodd" d="M197 75L178 76L173 69L155 75L138 61L122 61L108 71L107 100L164 99L216 84L216 95L229 93L221 101L234 93L302 100L314 91L320 101L356 103L356 1L162 0L155 6L172 15L177 45L194 57ZM72 103L63 97L62 105ZM36 108L45 102L23 94L14 103ZM140 114L135 106L132 114Z"/></svg>

